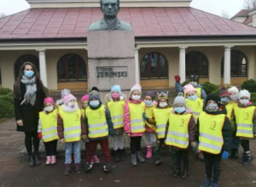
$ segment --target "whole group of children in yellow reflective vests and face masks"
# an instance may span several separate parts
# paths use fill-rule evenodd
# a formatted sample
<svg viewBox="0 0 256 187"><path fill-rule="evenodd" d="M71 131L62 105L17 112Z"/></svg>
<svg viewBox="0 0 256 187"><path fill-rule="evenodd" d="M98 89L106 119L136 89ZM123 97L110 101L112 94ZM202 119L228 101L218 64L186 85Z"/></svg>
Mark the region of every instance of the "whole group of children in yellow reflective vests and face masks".
<svg viewBox="0 0 256 187"><path fill-rule="evenodd" d="M43 138L46 165L55 164L57 139L66 145L65 174L71 172L71 162L76 173L80 169L81 139L86 145L85 172L98 162L96 146L102 146L104 171L111 172L111 156L108 138L113 137L114 161L123 161L124 133L130 137L131 165L137 166L145 158L141 141L145 135L147 154L150 159L155 144L154 164L160 165L161 149L168 146L173 164L173 176L187 178L189 175L189 149L195 150L197 158L205 161L207 179L202 186L218 186L220 160L238 157L241 144L244 154L241 163L253 161L249 139L256 135L255 107L247 90L236 87L222 88L220 94L206 95L196 75L190 83L181 87L177 76L177 97L169 104L168 92L147 91L142 98L142 88L135 84L125 101L119 85L113 85L107 105L103 105L98 88L92 88L82 98L79 110L76 98L68 90L62 92L61 104L55 109L51 98L44 99L44 111L40 112L38 137ZM184 95L184 97L183 97ZM254 118L253 118L254 117ZM183 164L182 164L183 162ZM183 169L181 166L183 165ZM212 175L213 172L213 175ZM213 176L213 177L212 177Z"/></svg>

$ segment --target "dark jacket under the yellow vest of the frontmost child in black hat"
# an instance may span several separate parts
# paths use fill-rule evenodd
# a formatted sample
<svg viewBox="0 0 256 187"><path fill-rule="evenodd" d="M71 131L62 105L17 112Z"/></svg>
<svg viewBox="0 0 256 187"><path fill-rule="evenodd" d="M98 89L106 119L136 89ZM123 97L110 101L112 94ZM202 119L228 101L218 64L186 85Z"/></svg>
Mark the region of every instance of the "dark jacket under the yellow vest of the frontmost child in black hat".
<svg viewBox="0 0 256 187"><path fill-rule="evenodd" d="M207 111L207 114L210 115L219 115L219 114L227 114L227 111L224 109L219 108L218 111ZM197 121L196 125L196 133L195 133L195 139L199 142L199 127L204 124L200 124L199 120ZM223 150L230 151L232 149L232 133L231 133L231 125L230 125L230 120L227 116L225 116L224 120L224 126L222 128L222 134L223 134L223 139L224 139L224 145L223 145Z"/></svg>

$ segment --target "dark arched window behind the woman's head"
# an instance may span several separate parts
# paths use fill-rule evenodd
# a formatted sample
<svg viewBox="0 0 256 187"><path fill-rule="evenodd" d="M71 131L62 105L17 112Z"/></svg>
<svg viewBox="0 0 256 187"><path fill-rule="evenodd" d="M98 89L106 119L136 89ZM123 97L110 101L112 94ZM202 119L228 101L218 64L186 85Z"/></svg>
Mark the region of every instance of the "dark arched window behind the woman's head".
<svg viewBox="0 0 256 187"><path fill-rule="evenodd" d="M23 65L24 62L31 62L33 65L35 65L39 70L39 59L37 56L33 54L24 54L19 57L19 59L16 59L15 62L15 79L19 76L20 73L20 67Z"/></svg>

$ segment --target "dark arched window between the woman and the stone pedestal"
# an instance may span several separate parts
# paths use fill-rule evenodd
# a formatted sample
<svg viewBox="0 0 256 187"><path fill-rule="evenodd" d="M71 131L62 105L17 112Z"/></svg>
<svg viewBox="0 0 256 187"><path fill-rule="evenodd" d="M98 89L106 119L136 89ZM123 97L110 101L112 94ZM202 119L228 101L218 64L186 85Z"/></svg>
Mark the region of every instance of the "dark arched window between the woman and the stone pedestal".
<svg viewBox="0 0 256 187"><path fill-rule="evenodd" d="M59 59L58 65L58 81L86 81L86 65L84 59L78 54L65 54Z"/></svg>

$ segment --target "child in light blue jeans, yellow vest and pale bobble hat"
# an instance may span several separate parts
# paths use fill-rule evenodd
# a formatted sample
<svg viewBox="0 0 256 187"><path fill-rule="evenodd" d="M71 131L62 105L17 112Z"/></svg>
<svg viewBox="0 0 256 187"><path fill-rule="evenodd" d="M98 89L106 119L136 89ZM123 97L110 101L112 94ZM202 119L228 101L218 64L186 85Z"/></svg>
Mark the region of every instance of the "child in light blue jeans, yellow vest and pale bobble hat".
<svg viewBox="0 0 256 187"><path fill-rule="evenodd" d="M66 147L65 175L71 172L72 154L74 154L75 172L81 173L81 138L86 139L84 118L76 100L73 94L66 94L58 114L58 135L61 143L65 143Z"/></svg>

